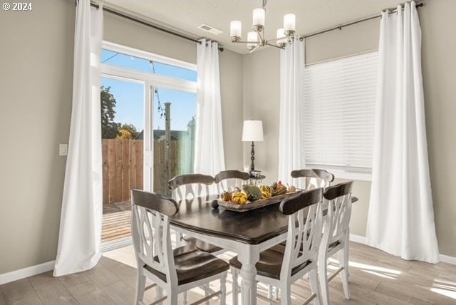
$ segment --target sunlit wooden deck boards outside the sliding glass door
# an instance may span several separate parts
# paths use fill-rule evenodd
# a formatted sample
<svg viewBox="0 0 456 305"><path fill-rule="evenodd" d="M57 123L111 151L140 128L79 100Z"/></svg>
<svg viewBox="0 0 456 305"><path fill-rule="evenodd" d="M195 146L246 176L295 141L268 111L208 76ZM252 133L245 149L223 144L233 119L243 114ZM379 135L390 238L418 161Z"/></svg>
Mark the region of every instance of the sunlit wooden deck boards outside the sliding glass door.
<svg viewBox="0 0 456 305"><path fill-rule="evenodd" d="M124 202L120 207L103 207L101 242L130 236L131 210L126 210L129 206L130 203Z"/></svg>

